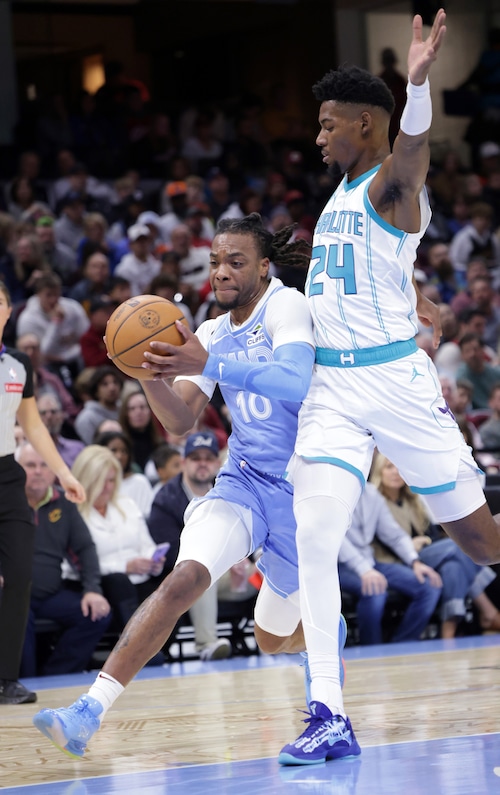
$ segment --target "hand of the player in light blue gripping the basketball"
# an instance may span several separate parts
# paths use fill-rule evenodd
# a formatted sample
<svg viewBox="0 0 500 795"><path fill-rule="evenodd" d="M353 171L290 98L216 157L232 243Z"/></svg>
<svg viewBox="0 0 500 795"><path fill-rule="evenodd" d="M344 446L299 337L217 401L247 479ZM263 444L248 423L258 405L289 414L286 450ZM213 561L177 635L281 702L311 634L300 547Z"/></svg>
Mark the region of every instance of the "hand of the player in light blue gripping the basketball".
<svg viewBox="0 0 500 795"><path fill-rule="evenodd" d="M196 334L180 321L176 321L179 333L184 337L183 345L168 342L151 342L150 351L145 351L142 366L157 374L157 378L173 378L177 375L201 375L207 363L208 353Z"/></svg>

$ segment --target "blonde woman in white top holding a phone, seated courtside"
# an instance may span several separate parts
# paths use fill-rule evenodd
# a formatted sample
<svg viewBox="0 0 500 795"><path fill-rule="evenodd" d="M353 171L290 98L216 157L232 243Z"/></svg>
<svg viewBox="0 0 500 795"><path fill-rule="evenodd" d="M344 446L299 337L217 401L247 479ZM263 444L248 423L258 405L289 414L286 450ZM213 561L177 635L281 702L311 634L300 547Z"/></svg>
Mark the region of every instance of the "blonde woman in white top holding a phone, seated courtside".
<svg viewBox="0 0 500 795"><path fill-rule="evenodd" d="M137 505L120 494L121 466L111 450L89 445L76 459L73 474L85 488L79 511L96 545L101 587L121 630L157 587L165 556L153 560L156 544ZM150 665L164 662L158 653Z"/></svg>

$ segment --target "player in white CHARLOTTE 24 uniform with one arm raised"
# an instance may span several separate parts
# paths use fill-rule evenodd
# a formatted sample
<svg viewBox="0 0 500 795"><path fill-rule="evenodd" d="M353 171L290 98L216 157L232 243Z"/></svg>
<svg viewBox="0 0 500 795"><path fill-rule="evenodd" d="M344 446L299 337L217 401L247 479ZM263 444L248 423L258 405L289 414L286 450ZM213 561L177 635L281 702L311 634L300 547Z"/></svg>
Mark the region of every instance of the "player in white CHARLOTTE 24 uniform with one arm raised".
<svg viewBox="0 0 500 795"><path fill-rule="evenodd" d="M430 220L424 188L432 115L428 74L445 31L442 9L425 40L422 19L414 17L407 103L392 153L394 101L379 78L341 67L313 87L321 103L316 143L323 162L344 177L316 225L305 290L316 365L289 471L311 715L305 732L283 748L282 764L334 758L345 733L334 572L375 446L477 563L500 558L499 526L477 467L433 363L414 340L417 318L433 319L416 292L413 263ZM376 588L367 574L363 589Z"/></svg>

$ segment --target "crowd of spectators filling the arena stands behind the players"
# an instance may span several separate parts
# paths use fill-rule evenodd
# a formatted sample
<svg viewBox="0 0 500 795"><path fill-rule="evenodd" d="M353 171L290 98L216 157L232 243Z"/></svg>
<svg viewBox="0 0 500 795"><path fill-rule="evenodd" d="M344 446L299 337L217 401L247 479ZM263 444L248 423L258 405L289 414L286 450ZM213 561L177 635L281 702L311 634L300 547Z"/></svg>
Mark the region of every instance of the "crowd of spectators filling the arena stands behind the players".
<svg viewBox="0 0 500 795"><path fill-rule="evenodd" d="M95 96L82 92L74 113L55 97L36 123L20 126L17 171L0 193L0 280L14 305L4 342L30 357L40 414L88 498L78 522L70 527L76 508L70 510L57 483L45 473L38 491L31 487L39 532L49 532L57 506L63 506L68 530L59 549L53 550L56 560L66 561L62 579L55 578L47 591L36 586L34 577L25 672L67 672L86 664L81 655L75 659L60 653L60 648L74 645L77 618L78 632L86 633L90 645L110 622L123 627L158 579L171 570L183 506L194 494L204 493L224 459L231 418L220 392L191 431L209 434L209 451L217 462L200 491L200 484L190 481L189 461L186 466L192 454L185 447L186 438L173 437L159 426L140 384L107 358L102 337L114 308L142 293L182 305L193 330L217 316L208 275L210 244L221 218L257 211L270 230L294 223L294 236L312 241L335 180L322 173L313 135L305 125L290 123L288 135L273 138L261 110L255 97L246 97L231 113L189 108L174 119L148 99L140 84L125 81L115 65ZM415 274L421 291L440 305L443 337L436 351L429 329L421 327L417 342L433 358L449 408L476 460L494 473L500 470L500 145L483 142L474 168L450 148L431 163L427 190L433 217ZM302 271L274 269L274 275L304 288ZM31 449L20 452L19 460L32 469L42 466ZM367 489L341 555L342 586L360 603L362 642L386 639L380 624L385 597L380 592L368 607L369 599L362 594L360 583L368 570L378 570L374 576L379 582L383 578L387 587L392 582L395 588L406 588L413 600L392 640L419 637L438 602L444 632L454 634L467 596L477 604L481 626L500 631L495 605L485 607L482 599L488 573L474 586L469 571L467 587L459 596L452 590L450 597L436 555L429 552L426 563L420 553L427 542L415 544L422 535L429 544L432 541L433 552L435 544L442 543L428 535L430 520L409 502L412 518L403 521L397 512L391 514L391 496L380 482L376 486L382 496L376 486ZM406 493L403 496L407 499ZM393 503L399 504L398 499ZM165 514L170 516L168 527ZM95 545L101 572L97 580L95 555L86 551L89 536L83 526ZM391 547L390 563L373 545L378 534ZM128 546L125 539L130 540ZM165 540L171 544L169 553L153 563L156 544ZM108 546L113 543L119 554ZM43 568L47 554L42 539L35 572L37 565ZM423 581L412 565L417 558ZM251 568L253 563L246 565ZM398 569L391 568L396 565ZM247 579L240 592L251 596ZM85 610L80 604L82 588L93 595ZM61 589L69 595L64 616L55 596ZM214 636L216 607L208 593L205 612L192 620L197 649L202 656L208 649L204 655L210 659L210 649L215 644L220 652L221 644ZM51 612L52 602L57 610ZM98 628L90 626L97 621L94 603L107 606ZM206 611L211 616L208 630ZM36 616L54 618L67 633L59 651L53 650L41 668L34 662ZM165 657L160 655L158 661Z"/></svg>

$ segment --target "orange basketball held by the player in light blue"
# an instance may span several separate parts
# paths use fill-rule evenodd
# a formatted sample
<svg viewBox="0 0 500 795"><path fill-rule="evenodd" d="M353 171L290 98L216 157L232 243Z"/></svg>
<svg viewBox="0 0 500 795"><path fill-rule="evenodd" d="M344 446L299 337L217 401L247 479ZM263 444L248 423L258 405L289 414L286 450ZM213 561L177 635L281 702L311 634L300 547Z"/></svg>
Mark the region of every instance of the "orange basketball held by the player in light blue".
<svg viewBox="0 0 500 795"><path fill-rule="evenodd" d="M120 304L106 326L106 347L116 366L132 378L153 378L152 370L141 367L144 352L153 340L182 345L184 338L177 331L175 321L188 322L182 310L158 295L137 295Z"/></svg>

